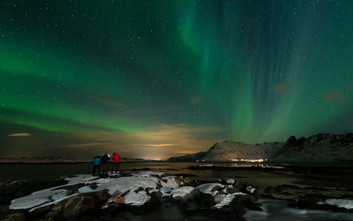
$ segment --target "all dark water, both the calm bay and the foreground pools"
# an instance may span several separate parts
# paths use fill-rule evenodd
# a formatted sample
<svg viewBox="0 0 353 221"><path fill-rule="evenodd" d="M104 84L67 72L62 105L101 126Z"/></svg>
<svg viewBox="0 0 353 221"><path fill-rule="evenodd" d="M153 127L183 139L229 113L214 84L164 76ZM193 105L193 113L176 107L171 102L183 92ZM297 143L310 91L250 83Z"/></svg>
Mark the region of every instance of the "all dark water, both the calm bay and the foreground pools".
<svg viewBox="0 0 353 221"><path fill-rule="evenodd" d="M185 169L192 165L203 164L221 164L221 165L256 165L256 166L273 166L277 163L261 162L261 163L233 163L233 162L158 162L158 163L121 163L120 167L124 173L134 173L132 169L151 168L154 171L161 171L170 174L196 174L200 177L217 177L217 171L213 170L189 170ZM303 167L353 167L353 163L287 163ZM0 182L7 183L18 180L33 179L50 179L59 178L67 175L91 174L92 164L10 164L0 165ZM172 169L172 170L170 170ZM353 220L352 214L334 213L331 211L320 210L301 210L296 208L288 208L287 202L280 200L260 199L264 211L248 210L244 215L248 221L321 221L321 220ZM198 205L190 203L189 209L196 209ZM159 208L151 211L149 214L140 216L133 215L128 212L119 212L115 217L77 217L74 220L168 220L168 221L211 221L219 220L210 217L193 216L188 217L185 212L179 209L178 204L162 203ZM221 220L219 220L221 221Z"/></svg>

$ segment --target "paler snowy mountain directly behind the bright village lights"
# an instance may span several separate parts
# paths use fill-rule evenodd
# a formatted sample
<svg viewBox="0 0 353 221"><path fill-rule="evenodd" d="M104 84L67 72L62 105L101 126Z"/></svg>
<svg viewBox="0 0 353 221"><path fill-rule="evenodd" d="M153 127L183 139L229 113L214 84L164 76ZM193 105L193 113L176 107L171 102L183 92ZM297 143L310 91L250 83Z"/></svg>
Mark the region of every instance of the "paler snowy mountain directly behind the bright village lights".
<svg viewBox="0 0 353 221"><path fill-rule="evenodd" d="M246 144L224 141L216 143L207 152L197 152L181 157L170 157L167 161L231 161L232 159L268 159L283 147L283 142Z"/></svg>

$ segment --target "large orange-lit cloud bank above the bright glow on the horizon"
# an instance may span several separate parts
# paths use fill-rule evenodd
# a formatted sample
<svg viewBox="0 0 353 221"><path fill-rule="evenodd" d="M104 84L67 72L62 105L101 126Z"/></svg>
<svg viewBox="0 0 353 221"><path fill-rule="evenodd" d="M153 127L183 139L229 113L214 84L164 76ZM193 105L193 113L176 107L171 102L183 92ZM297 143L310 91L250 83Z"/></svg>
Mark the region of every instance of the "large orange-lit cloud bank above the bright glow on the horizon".
<svg viewBox="0 0 353 221"><path fill-rule="evenodd" d="M207 151L216 142L214 132L222 133L224 128L194 126L190 124L159 124L144 132L95 131L76 133L85 144L70 144L73 148L96 151L118 151L124 157L164 159L181 156L180 153Z"/></svg>

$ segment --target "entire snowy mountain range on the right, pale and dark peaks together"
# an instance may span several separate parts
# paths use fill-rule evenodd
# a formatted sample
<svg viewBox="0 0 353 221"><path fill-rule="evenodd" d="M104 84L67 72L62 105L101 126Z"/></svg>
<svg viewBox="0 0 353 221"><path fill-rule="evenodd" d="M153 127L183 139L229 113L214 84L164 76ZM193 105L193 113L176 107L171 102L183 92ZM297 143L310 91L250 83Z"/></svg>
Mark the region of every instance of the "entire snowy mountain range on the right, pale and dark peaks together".
<svg viewBox="0 0 353 221"><path fill-rule="evenodd" d="M307 138L290 136L283 142L246 144L226 140L215 143L208 151L197 152L166 161L232 161L268 159L270 162L353 162L353 133L319 133Z"/></svg>

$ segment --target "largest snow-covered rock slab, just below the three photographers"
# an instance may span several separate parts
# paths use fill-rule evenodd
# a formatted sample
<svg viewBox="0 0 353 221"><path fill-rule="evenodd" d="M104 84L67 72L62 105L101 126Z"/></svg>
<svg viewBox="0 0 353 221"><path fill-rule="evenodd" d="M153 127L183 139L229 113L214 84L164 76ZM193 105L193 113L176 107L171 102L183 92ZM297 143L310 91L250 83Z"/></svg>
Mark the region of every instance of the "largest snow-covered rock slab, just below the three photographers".
<svg viewBox="0 0 353 221"><path fill-rule="evenodd" d="M101 190L107 190L110 195L106 203L114 202L139 206L149 202L152 198L152 192L161 192L161 188L163 187L165 187L164 191L169 188L178 188L179 185L175 181L175 178L174 176L155 172L142 172L118 179L96 179L94 176L79 175L73 178L66 178L70 181L67 185L48 188L34 192L29 196L14 199L11 201L10 209L35 209L37 207L58 204L61 200L79 194ZM82 182L84 185L77 185ZM76 193L68 191L73 185L82 187L78 188Z"/></svg>

